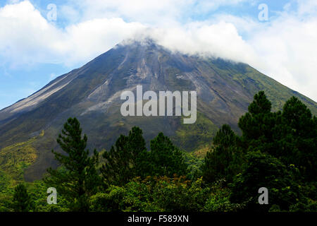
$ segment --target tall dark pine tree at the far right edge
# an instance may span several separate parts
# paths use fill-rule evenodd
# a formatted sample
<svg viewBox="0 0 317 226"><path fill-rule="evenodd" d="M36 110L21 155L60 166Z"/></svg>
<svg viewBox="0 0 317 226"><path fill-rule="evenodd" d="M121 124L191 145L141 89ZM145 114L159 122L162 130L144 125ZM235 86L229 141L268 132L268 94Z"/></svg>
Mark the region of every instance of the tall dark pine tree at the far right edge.
<svg viewBox="0 0 317 226"><path fill-rule="evenodd" d="M317 124L316 117L297 97L291 97L285 103L278 148L283 150L280 156L285 164L293 164L301 170L305 179L315 179L317 174Z"/></svg>

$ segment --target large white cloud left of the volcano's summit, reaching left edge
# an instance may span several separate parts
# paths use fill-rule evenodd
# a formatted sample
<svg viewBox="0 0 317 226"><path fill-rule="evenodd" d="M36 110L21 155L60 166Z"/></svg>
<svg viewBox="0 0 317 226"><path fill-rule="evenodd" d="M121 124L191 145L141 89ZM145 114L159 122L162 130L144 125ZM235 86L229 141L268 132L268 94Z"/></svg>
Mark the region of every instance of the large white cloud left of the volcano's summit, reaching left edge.
<svg viewBox="0 0 317 226"><path fill-rule="evenodd" d="M121 18L100 18L57 28L29 1L0 8L0 55L11 66L85 62L144 28Z"/></svg>

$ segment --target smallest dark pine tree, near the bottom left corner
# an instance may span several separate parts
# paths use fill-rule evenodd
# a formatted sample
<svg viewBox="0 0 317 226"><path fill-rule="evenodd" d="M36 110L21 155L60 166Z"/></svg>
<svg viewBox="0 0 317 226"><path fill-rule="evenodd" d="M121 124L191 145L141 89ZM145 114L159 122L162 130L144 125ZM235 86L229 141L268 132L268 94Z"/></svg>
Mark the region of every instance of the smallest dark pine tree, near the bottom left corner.
<svg viewBox="0 0 317 226"><path fill-rule="evenodd" d="M12 207L15 212L30 212L34 210L35 203L32 201L31 196L27 193L27 189L24 184L18 184L18 186L15 186Z"/></svg>

